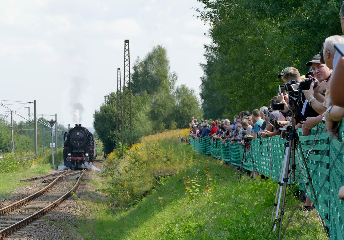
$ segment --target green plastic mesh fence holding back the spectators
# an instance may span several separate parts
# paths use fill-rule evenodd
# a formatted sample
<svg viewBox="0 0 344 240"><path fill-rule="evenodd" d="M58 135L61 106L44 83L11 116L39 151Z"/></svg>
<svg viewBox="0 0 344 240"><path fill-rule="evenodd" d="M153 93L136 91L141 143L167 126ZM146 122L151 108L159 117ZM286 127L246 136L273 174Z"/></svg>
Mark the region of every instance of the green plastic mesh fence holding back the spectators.
<svg viewBox="0 0 344 240"><path fill-rule="evenodd" d="M338 198L338 191L344 185L344 144L342 142L344 121L341 122L339 128L340 141L330 137L323 123L314 127L309 136L304 136L301 129L297 132L310 173L308 176L300 146L297 146L295 176L299 177L297 179L299 188L306 190L310 196L315 208L330 229L330 237L343 240L344 202ZM255 170L275 181L279 181L280 178L286 143L287 140L280 136L254 139L244 154L244 147L238 145L237 142L231 144L227 141L222 144L219 140L210 141L208 137L190 139L190 144L197 153L212 154L216 158L237 166L243 159L243 167L250 171L253 169L253 159ZM309 178L311 178L315 196L309 187ZM315 198L318 203L315 202Z"/></svg>

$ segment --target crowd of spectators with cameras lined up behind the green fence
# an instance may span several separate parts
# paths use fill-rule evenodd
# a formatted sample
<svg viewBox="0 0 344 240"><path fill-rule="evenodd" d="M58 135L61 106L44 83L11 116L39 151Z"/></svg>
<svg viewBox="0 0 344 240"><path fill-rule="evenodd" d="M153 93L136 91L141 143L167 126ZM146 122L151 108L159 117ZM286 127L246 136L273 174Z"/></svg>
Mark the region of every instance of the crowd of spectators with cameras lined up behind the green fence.
<svg viewBox="0 0 344 240"><path fill-rule="evenodd" d="M340 23L344 34L344 2ZM303 135L308 136L312 128L325 121L329 134L339 140L338 122L344 118L344 57L343 52L336 50L336 44L344 44L344 36L325 38L320 52L310 56L310 61L305 64L309 67L305 75L294 67L283 68L277 75L281 79L280 91L271 98L270 106L262 106L252 113L241 111L233 121L222 119L208 124L207 120L198 122L193 117L190 136L195 139L210 137L224 145L235 142L242 145L245 138L280 135L284 139L290 129L287 127L291 125L295 129L302 128ZM344 201L344 186L338 196ZM312 209L313 204L307 197L300 210Z"/></svg>

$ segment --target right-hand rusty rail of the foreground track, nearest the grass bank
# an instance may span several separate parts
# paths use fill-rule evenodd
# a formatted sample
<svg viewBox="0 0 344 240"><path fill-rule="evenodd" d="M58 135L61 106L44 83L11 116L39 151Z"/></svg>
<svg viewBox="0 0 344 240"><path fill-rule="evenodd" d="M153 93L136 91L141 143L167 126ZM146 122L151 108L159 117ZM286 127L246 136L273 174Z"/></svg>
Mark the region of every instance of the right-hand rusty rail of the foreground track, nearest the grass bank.
<svg viewBox="0 0 344 240"><path fill-rule="evenodd" d="M74 186L71 188L71 190L69 190L66 194L64 194L62 197L60 197L58 200L56 200L55 202L49 204L48 206L42 208L40 211L32 214L29 217L26 217L25 219L19 221L18 223L15 223L3 230L0 230L0 238L6 237L7 235L9 235L10 233L19 230L21 227L25 226L26 224L31 223L32 221L34 221L37 218L40 218L41 216L43 216L45 213L50 212L52 209L54 209L56 206L58 206L59 204L61 204L64 200L66 200L72 193L72 191L74 191L79 183L80 180L83 178L85 172L87 169L84 169L83 172L81 173L81 175L78 177L78 180L76 181L76 183L74 184Z"/></svg>

